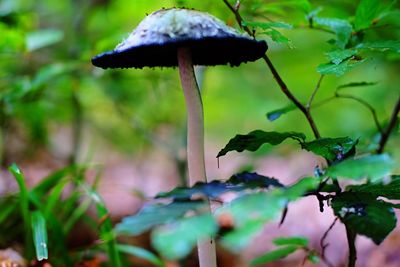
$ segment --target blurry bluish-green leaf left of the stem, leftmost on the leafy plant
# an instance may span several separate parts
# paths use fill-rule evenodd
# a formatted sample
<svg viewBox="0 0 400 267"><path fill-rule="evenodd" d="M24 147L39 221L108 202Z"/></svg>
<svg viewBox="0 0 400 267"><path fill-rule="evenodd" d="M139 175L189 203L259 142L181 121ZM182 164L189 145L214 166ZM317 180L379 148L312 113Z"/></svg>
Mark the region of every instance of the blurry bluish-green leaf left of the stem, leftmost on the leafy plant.
<svg viewBox="0 0 400 267"><path fill-rule="evenodd" d="M154 226L170 223L183 217L186 212L198 210L203 202L172 202L170 204L153 204L145 206L136 215L125 217L117 224L115 230L119 234L138 235Z"/></svg>

